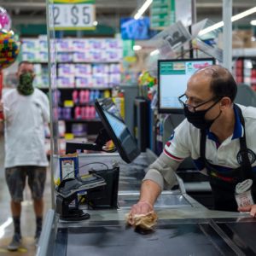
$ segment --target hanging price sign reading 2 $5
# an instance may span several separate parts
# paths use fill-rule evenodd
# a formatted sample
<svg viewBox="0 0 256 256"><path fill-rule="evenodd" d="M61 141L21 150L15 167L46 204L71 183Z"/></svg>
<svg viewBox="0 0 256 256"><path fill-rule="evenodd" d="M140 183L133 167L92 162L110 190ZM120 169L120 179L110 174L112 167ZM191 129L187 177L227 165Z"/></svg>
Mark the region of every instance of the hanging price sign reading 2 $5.
<svg viewBox="0 0 256 256"><path fill-rule="evenodd" d="M49 0L50 23L55 30L95 29L95 0Z"/></svg>

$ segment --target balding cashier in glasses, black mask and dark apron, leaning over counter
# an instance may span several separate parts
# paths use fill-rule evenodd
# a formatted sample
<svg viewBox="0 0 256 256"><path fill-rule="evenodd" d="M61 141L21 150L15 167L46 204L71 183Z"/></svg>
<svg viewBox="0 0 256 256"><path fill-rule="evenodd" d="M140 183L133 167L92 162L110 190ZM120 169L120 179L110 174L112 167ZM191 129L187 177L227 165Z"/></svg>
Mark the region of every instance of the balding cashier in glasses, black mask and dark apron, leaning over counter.
<svg viewBox="0 0 256 256"><path fill-rule="evenodd" d="M256 217L256 108L234 103L236 81L224 67L196 72L179 96L186 119L149 166L131 216L153 211L161 191L177 182L177 166L191 156L208 175L214 209Z"/></svg>

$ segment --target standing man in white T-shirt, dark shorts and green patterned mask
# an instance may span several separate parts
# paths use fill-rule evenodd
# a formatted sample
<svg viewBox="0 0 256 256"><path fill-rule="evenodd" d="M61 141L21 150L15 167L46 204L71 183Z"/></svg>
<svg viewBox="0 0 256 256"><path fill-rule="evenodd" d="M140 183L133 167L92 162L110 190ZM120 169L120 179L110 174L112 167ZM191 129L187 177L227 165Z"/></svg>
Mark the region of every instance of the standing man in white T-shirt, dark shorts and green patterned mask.
<svg viewBox="0 0 256 256"><path fill-rule="evenodd" d="M42 230L44 212L44 183L48 160L44 149L44 125L49 123L49 100L36 88L31 62L22 61L17 71L17 88L3 95L0 111L3 111L5 139L5 177L11 195L11 212L15 234L8 249L20 247L20 213L23 190L28 185L32 191L36 215L36 242Z"/></svg>

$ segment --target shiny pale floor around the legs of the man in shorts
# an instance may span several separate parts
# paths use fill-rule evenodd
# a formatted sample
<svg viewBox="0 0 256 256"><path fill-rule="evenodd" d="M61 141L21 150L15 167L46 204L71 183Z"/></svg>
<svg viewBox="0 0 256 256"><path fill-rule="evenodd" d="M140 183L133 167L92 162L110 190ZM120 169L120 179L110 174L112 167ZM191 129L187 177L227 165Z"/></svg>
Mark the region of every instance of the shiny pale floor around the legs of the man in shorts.
<svg viewBox="0 0 256 256"><path fill-rule="evenodd" d="M21 212L22 247L20 247L17 252L9 252L7 250L9 241L13 236L14 228L9 207L9 190L4 177L3 152L3 137L0 137L0 255L36 255L36 247L33 239L36 229L35 215L30 190L27 186L24 191L24 201L22 202ZM47 183L44 190L44 212L47 212L51 203L49 174L48 171Z"/></svg>

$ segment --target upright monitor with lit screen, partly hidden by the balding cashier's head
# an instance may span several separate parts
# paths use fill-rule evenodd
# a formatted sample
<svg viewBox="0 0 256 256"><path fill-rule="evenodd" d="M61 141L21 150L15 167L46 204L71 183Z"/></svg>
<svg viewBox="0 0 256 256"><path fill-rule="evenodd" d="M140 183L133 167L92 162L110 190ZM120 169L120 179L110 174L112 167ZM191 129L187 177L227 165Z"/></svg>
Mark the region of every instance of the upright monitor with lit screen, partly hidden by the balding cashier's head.
<svg viewBox="0 0 256 256"><path fill-rule="evenodd" d="M195 71L214 64L213 58L159 60L158 109L159 113L183 113L177 97L187 89L187 82Z"/></svg>

